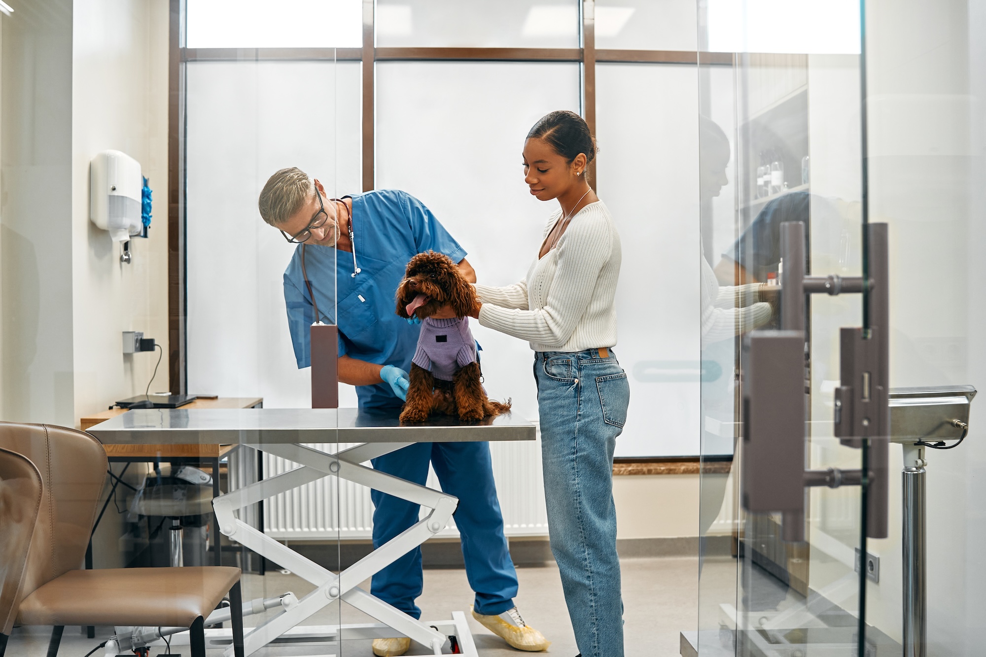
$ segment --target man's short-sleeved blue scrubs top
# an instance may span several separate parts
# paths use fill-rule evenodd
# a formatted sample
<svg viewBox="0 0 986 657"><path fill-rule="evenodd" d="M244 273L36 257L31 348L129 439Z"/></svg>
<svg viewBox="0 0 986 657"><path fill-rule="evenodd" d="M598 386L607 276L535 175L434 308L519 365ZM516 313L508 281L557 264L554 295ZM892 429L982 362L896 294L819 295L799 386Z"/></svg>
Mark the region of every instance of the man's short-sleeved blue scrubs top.
<svg viewBox="0 0 986 657"><path fill-rule="evenodd" d="M356 263L361 271L352 276L352 254L310 245L305 267L318 302L318 314L325 324L338 325L340 356L409 371L420 327L407 324L394 312L397 285L404 277L407 261L431 250L458 262L465 257L465 251L431 210L404 191L380 189L349 197L353 199ZM299 246L284 271L288 328L299 369L312 364L309 334L315 322L315 309L302 276L301 255ZM335 298L337 304L332 303ZM358 386L356 394L360 408L392 408L403 403L386 383Z"/></svg>

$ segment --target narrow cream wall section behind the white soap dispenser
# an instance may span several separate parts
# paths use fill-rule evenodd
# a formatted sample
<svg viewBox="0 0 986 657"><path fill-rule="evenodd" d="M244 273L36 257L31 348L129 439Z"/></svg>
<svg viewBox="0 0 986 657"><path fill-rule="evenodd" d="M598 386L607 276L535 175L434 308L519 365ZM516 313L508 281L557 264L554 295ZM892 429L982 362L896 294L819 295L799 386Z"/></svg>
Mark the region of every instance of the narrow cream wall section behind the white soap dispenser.
<svg viewBox="0 0 986 657"><path fill-rule="evenodd" d="M74 422L143 393L158 353L124 356L121 332L164 349L151 392L168 381L167 0L76 0L72 41L72 299ZM154 192L149 238L132 261L89 219L89 162L123 151Z"/></svg>

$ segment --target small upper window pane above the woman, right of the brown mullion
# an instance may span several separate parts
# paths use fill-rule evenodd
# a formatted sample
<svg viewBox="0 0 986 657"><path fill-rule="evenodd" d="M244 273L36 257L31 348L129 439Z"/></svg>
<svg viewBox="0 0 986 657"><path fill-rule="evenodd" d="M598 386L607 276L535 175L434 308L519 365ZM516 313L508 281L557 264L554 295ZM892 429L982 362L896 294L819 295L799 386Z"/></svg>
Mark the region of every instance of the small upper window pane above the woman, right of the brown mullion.
<svg viewBox="0 0 986 657"><path fill-rule="evenodd" d="M596 47L694 50L695 0L596 0Z"/></svg>

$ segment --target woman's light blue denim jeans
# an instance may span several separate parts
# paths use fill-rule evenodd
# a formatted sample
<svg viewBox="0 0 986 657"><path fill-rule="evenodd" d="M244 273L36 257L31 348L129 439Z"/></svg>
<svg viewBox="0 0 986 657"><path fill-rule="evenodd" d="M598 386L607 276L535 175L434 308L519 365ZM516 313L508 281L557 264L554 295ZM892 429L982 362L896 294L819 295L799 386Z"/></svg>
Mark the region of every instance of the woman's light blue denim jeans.
<svg viewBox="0 0 986 657"><path fill-rule="evenodd" d="M551 551L583 657L622 657L613 450L630 386L597 349L534 354Z"/></svg>

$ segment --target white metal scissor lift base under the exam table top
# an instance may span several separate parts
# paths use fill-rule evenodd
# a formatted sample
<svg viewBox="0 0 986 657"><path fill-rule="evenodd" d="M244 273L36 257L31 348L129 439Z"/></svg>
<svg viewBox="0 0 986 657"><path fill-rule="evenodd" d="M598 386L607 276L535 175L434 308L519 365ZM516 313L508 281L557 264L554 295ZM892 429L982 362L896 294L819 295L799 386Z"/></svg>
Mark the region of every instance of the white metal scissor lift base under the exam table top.
<svg viewBox="0 0 986 657"><path fill-rule="evenodd" d="M343 450L337 455L319 452L300 444L264 444L262 447L243 444L244 447L267 452L302 467L250 483L213 500L220 532L291 570L317 587L297 603L285 605L272 619L256 627L246 628L244 636L246 655L253 654L264 646L278 643L290 643L292 646L306 643L328 644L330 652L337 652L338 643L343 639L408 636L436 655L443 654L444 647L449 646L450 652L457 652L466 657L478 657L464 613L454 612L452 619L448 620L416 620L357 586L445 529L458 506L458 498L453 495L360 465L411 444L363 443ZM432 511L415 525L338 575L250 527L236 516L235 511L238 509L324 476L337 476L340 479L353 481L394 497L421 504ZM299 623L336 600L346 602L380 622L299 626ZM173 645L187 644L188 632L178 632L170 640ZM232 641L233 635L230 629L206 630L206 648L225 647L226 657L233 656ZM160 639L154 641L155 645L159 643L163 644ZM332 645L336 650L331 650Z"/></svg>

